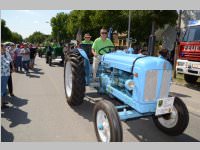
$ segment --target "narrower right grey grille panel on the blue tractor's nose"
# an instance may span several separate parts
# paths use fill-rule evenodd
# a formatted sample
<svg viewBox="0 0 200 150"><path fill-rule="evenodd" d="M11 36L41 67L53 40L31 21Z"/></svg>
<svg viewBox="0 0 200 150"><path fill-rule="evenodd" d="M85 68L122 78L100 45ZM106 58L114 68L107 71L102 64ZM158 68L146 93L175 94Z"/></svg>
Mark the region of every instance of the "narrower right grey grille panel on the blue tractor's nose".
<svg viewBox="0 0 200 150"><path fill-rule="evenodd" d="M168 87L171 80L171 70L163 70L163 78L160 89L160 98L168 97Z"/></svg>

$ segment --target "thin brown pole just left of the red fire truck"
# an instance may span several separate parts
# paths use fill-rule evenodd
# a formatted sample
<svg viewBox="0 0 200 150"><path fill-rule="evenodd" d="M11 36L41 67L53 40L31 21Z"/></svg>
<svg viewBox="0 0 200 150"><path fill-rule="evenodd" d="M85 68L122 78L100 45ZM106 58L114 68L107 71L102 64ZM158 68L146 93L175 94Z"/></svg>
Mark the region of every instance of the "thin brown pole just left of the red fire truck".
<svg viewBox="0 0 200 150"><path fill-rule="evenodd" d="M179 10L176 42L175 42L175 46L174 46L174 78L176 78L176 61L177 61L177 55L178 55L178 48L179 48L179 44L180 44L182 13L183 13L183 11Z"/></svg>

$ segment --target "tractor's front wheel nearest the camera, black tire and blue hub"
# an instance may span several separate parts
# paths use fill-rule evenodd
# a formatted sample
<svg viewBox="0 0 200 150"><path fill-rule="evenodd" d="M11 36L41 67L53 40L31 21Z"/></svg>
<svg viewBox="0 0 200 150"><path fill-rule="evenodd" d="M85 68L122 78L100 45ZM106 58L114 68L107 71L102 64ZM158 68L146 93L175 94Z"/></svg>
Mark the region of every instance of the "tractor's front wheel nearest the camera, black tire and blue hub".
<svg viewBox="0 0 200 150"><path fill-rule="evenodd" d="M94 128L100 142L122 141L121 121L115 106L111 102L101 100L95 104Z"/></svg>

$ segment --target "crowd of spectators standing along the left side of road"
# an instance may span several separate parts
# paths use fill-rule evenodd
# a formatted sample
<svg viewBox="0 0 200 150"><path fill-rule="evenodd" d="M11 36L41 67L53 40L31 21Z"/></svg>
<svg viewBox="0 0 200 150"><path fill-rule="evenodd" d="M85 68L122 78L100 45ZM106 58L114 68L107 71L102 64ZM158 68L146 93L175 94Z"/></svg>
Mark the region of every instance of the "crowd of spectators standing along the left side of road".
<svg viewBox="0 0 200 150"><path fill-rule="evenodd" d="M11 97L13 93L12 72L29 74L34 68L36 47L32 44L1 44L1 108L7 108L7 86Z"/></svg>

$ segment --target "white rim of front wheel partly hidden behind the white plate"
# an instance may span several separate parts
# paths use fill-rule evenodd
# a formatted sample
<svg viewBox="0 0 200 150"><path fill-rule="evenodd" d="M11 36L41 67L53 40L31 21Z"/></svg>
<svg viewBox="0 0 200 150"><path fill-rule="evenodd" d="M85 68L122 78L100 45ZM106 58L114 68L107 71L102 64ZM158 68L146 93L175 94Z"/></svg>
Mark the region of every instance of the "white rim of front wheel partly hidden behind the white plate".
<svg viewBox="0 0 200 150"><path fill-rule="evenodd" d="M175 107L173 107L172 112L169 116L169 119L165 119L164 117L159 117L158 121L165 128L173 128L176 126L178 122L178 111Z"/></svg>

